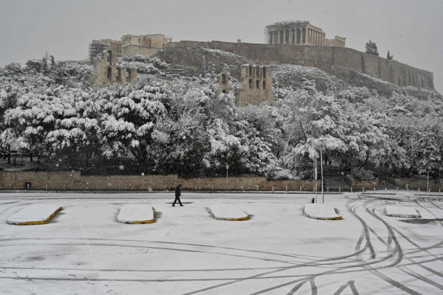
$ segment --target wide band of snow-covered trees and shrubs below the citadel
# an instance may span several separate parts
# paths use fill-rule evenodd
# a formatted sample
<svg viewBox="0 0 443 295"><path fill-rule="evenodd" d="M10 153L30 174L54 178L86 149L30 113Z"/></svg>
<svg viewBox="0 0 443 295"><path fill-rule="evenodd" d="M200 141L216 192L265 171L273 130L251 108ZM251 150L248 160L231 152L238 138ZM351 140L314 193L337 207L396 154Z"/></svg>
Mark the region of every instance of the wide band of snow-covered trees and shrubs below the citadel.
<svg viewBox="0 0 443 295"><path fill-rule="evenodd" d="M165 66L142 55L119 62L152 75ZM311 179L323 138L323 159L354 179L373 172L443 176L443 102L436 93L425 100L403 89L385 98L318 69L282 65L275 67L273 105L239 108L237 80L229 77L233 91L221 93L210 62L192 79L100 89L87 87L90 70L51 56L26 69L1 69L0 146L15 143L42 163L69 168L132 157L143 172L224 175L229 165L233 175Z"/></svg>

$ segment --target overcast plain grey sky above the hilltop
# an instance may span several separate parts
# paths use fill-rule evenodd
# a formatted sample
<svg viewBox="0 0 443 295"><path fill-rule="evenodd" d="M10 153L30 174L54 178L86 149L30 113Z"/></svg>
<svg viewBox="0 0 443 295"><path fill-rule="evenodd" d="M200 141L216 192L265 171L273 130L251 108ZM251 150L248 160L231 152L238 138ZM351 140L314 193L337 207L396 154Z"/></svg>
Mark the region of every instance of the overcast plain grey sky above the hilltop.
<svg viewBox="0 0 443 295"><path fill-rule="evenodd" d="M173 41L264 43L276 21L310 21L327 38L346 37L364 51L434 73L443 93L442 0L0 0L0 66L22 65L46 51L55 60L86 60L92 39L161 33Z"/></svg>

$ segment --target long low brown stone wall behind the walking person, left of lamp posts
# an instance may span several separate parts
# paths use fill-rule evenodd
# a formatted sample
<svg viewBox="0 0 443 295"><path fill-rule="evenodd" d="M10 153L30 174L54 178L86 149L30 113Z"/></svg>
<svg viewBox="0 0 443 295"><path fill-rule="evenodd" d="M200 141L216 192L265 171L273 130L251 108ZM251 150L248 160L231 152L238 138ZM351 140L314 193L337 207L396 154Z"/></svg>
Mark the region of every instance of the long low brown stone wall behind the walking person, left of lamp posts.
<svg viewBox="0 0 443 295"><path fill-rule="evenodd" d="M311 180L269 181L266 177L229 177L229 190L309 190ZM226 177L181 179L177 175L81 175L73 172L0 172L0 190L226 190ZM320 189L320 181L317 188Z"/></svg>

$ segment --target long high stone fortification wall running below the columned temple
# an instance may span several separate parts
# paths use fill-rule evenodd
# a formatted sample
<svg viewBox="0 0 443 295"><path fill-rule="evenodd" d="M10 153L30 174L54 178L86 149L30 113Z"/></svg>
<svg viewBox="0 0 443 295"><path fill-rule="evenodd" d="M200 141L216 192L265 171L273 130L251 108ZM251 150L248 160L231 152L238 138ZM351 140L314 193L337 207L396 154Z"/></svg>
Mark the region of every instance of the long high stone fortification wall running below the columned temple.
<svg viewBox="0 0 443 295"><path fill-rule="evenodd" d="M260 64L299 64L328 70L343 67L397 84L434 89L433 73L352 48L314 45L181 41L168 46L206 47L227 51Z"/></svg>

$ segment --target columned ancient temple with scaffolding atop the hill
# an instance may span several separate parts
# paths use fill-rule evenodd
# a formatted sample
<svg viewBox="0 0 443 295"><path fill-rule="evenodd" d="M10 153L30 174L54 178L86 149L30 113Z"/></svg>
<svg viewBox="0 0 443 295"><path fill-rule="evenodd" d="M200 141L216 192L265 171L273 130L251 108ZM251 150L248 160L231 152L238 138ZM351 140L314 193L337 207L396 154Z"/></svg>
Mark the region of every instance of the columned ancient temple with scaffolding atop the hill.
<svg viewBox="0 0 443 295"><path fill-rule="evenodd" d="M268 44L303 44L345 46L345 38L341 42L326 39L326 33L321 28L312 26L309 21L282 21L266 26Z"/></svg>

